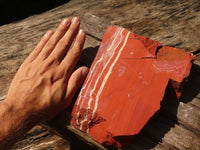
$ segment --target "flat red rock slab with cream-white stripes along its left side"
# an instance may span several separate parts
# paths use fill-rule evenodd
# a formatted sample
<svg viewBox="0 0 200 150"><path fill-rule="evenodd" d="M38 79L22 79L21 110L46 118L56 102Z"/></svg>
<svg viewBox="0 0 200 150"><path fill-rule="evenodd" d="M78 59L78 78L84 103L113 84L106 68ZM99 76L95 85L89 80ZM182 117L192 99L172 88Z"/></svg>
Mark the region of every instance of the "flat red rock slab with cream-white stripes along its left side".
<svg viewBox="0 0 200 150"><path fill-rule="evenodd" d="M183 50L108 27L72 111L71 124L101 144L121 147L160 108L169 80L185 79L193 57ZM180 91L176 91L177 97Z"/></svg>

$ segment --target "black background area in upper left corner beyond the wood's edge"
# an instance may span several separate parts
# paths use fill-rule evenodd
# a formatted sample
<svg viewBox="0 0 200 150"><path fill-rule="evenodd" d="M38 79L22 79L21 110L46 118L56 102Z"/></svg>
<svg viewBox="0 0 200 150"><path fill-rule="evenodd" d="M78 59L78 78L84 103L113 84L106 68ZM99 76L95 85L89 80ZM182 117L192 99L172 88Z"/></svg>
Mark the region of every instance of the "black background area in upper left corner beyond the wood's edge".
<svg viewBox="0 0 200 150"><path fill-rule="evenodd" d="M0 3L0 25L42 13L68 1L69 0L3 0Z"/></svg>

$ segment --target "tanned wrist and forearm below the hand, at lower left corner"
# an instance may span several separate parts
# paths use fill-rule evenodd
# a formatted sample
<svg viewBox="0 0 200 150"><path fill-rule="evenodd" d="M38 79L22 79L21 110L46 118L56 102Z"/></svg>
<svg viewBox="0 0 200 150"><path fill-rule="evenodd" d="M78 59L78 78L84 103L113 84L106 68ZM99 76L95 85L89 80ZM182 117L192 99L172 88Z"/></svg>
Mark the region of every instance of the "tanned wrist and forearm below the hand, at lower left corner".
<svg viewBox="0 0 200 150"><path fill-rule="evenodd" d="M17 104L0 104L0 150L9 149L34 125L29 120L29 114L25 108L14 107Z"/></svg>

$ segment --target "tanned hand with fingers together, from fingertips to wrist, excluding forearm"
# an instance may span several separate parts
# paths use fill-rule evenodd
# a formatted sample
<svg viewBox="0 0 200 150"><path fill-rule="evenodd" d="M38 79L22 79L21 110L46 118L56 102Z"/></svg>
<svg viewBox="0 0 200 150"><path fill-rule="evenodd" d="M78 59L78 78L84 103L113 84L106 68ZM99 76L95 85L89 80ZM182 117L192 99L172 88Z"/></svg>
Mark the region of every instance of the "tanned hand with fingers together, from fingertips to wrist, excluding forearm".
<svg viewBox="0 0 200 150"><path fill-rule="evenodd" d="M82 67L72 74L85 41L79 25L79 18L64 19L55 33L48 31L44 35L14 77L7 104L27 114L38 114L42 120L69 106L88 73L88 68Z"/></svg>

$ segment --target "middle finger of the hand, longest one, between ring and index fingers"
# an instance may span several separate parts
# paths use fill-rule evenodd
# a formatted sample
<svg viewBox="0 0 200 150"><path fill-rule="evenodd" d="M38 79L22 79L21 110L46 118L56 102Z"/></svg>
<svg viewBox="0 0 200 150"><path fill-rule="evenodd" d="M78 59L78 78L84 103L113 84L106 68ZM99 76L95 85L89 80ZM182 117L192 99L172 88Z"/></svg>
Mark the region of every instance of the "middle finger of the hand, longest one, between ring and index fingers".
<svg viewBox="0 0 200 150"><path fill-rule="evenodd" d="M70 48L72 42L74 41L74 38L78 33L79 26L80 19L78 17L73 18L69 30L56 45L55 49L49 56L50 59L57 59L58 61L62 60L62 58L66 55L68 49Z"/></svg>

